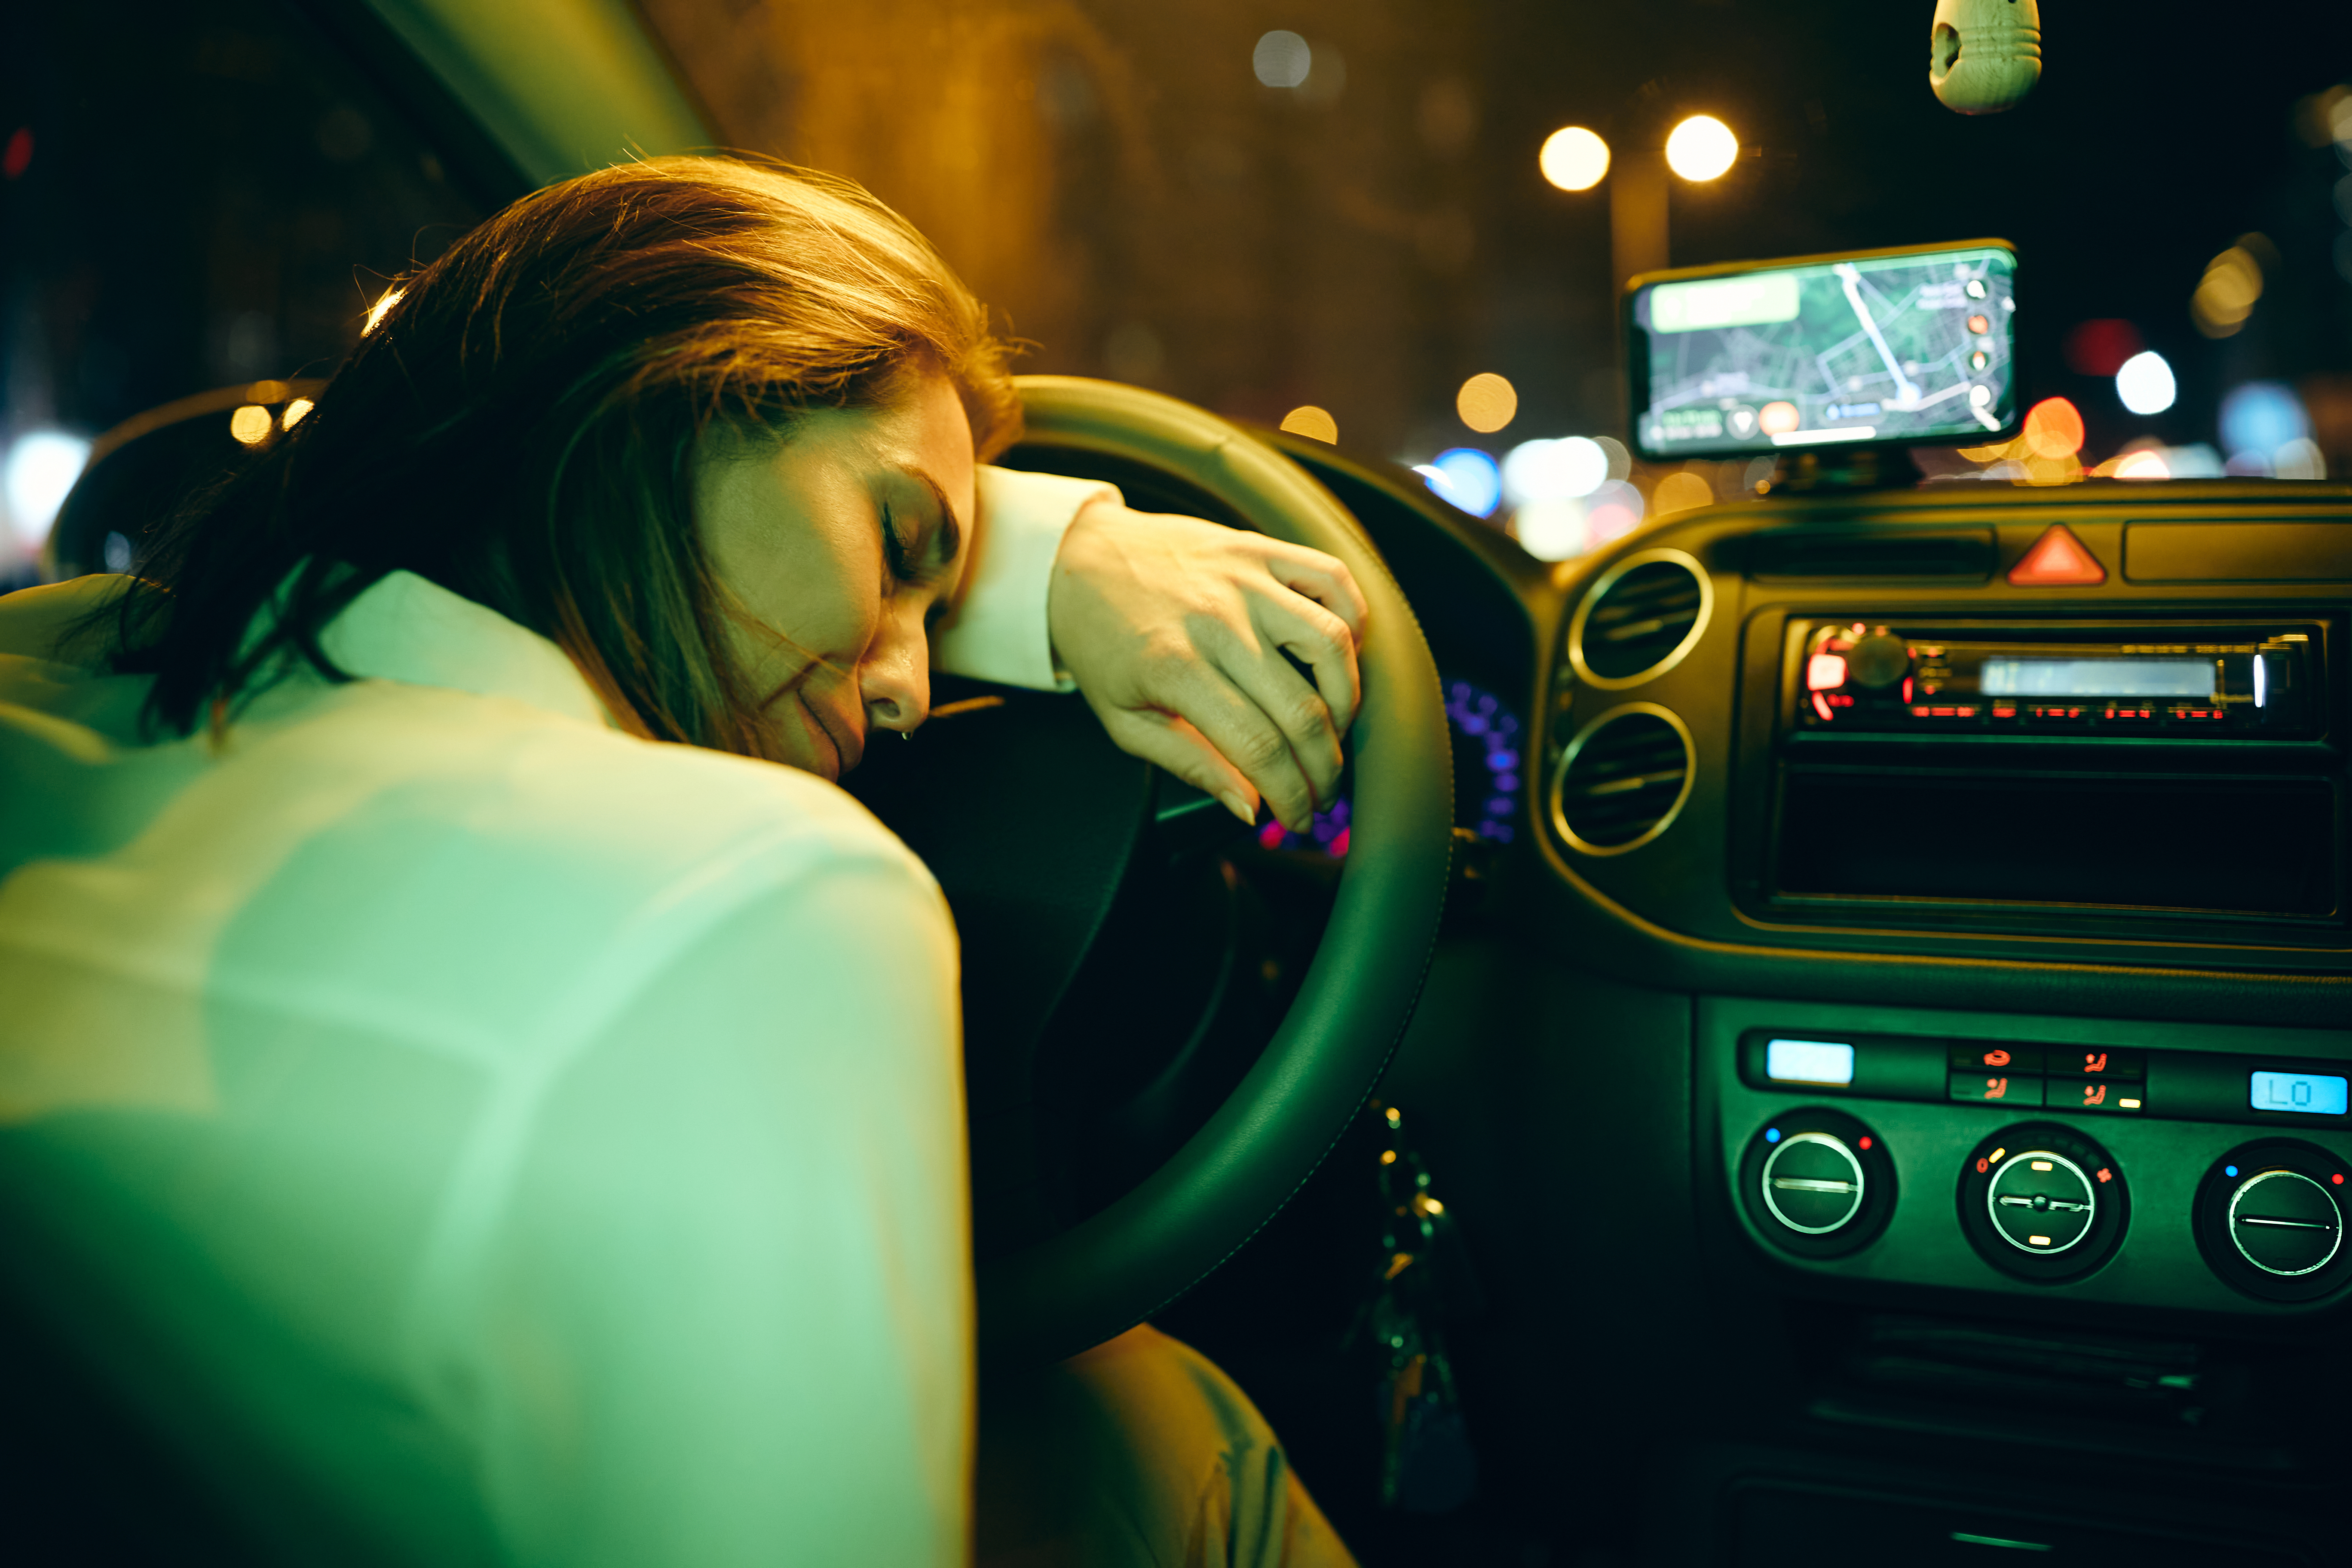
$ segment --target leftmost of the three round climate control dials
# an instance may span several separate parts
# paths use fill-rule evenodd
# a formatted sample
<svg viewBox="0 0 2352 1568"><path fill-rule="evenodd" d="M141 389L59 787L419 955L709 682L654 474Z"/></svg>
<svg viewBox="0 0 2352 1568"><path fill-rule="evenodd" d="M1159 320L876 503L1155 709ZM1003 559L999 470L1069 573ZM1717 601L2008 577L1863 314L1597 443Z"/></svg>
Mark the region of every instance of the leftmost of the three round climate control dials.
<svg viewBox="0 0 2352 1568"><path fill-rule="evenodd" d="M1896 1206L1896 1166L1879 1135L1818 1105L1757 1128L1738 1185L1757 1232L1799 1258L1870 1246Z"/></svg>

